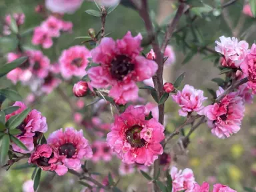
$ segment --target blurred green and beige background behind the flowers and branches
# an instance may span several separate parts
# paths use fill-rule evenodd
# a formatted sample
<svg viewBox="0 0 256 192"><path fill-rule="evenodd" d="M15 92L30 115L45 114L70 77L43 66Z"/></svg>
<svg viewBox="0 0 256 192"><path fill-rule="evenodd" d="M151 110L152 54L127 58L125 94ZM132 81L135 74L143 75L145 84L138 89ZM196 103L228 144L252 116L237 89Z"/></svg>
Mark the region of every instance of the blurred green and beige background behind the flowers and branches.
<svg viewBox="0 0 256 192"><path fill-rule="evenodd" d="M195 6L201 6L199 1L190 2ZM215 6L215 1L213 0L203 2ZM24 25L21 26L21 31L27 31L28 29L36 27L43 21L43 17L35 13L34 10L35 6L40 3L43 3L43 1L0 0L1 21L3 21L5 14L7 13L22 12L25 13L26 18ZM175 9L175 1L151 0L150 8L155 23L161 23L161 21L166 20L166 18L173 13L173 9ZM73 33L65 33L61 35L55 42L55 47L43 50L43 53L51 59L51 63L57 61L57 58L63 49L67 49L72 45L78 45L80 43L80 40L75 39L75 37L86 36L89 28L94 28L96 31L101 28L100 19L98 17L87 15L87 13L84 12L87 9L96 9L96 7L93 2L85 1L75 14L64 15L63 19L65 21L73 22ZM243 17L243 25L239 27L239 37L243 35L242 38L246 39L251 45L256 37L256 22L255 19L245 17L241 13L242 9L243 1L239 0L231 7L225 9L226 13L224 14L229 15L228 20L232 23L233 30L235 30L235 26L238 22L241 23L239 19ZM1 24L3 24L3 22L1 22ZM2 31L3 27L1 24L0 31ZM179 27L185 25L186 18L183 17ZM230 37L233 31L231 31L230 27L227 25L227 18L223 18L223 15L216 17L212 13L209 13L207 18L203 17L197 19L194 23L194 27L199 29L204 41L212 42L209 45L212 49L214 49L215 40L218 40L221 35ZM123 37L127 31L132 31L134 35L139 32L145 35L143 21L140 19L138 13L133 9L120 5L115 11L107 16L106 33L111 33L110 36L117 39ZM182 36L184 33L179 33L179 35ZM163 34L159 35L159 37L161 36L163 36ZM188 29L185 41L188 44L193 44L195 43L194 40L193 34ZM26 36L26 38L23 39L23 45L25 45L27 49L39 49L39 47L31 45L30 41L31 35ZM5 63L5 55L15 49L17 45L16 43L17 41L15 41L13 35L0 38L1 63ZM177 37L171 39L170 44L173 45L175 49L177 61L175 65L165 69L164 79L173 81L185 71L187 75L183 83L193 85L197 89L203 89L205 95L211 98L211 95L207 92L207 88L217 89L216 83L213 83L211 79L224 76L218 75L219 70L217 67L214 67L213 62L203 60L202 58L205 57L205 55L202 54L195 55L188 63L182 65L181 63L189 53L189 50L184 48L184 43L177 43ZM86 44L86 46L91 49L89 44ZM145 47L143 52L147 53L149 49L150 47ZM60 85L61 89L65 90L65 93L71 98L73 103L77 101L72 94L73 83L76 81L77 79L73 79L71 82L65 82ZM23 98L30 93L28 87L23 87L19 83L17 85L12 85L11 81L7 79L1 79L0 88L1 87L12 87L19 91ZM146 97L145 92L141 91L140 94ZM151 98L149 98L149 100L151 100ZM91 98L87 99L87 97L85 97L85 102L87 104L90 103ZM11 104L11 102L5 103L5 105L9 104ZM178 107L171 101L171 98L167 100L165 106L166 112L169 115L167 129L172 131L175 129L175 126L183 121L183 119L179 117L177 112ZM50 95L39 97L32 107L41 111L41 113L47 117L49 126L47 134L61 127L71 125L77 129L86 129L86 127L75 125L73 121L73 112L71 111L70 106L61 99L57 91L53 91ZM84 113L88 118L91 114L90 110L91 109L88 108ZM191 143L187 149L188 153L175 147L175 141L177 141L177 137L175 137L173 142L168 145L166 149L167 152L172 155L172 164L177 165L180 168L189 167L193 169L195 178L199 183L209 181L209 179L215 179L216 183L219 182L229 185L237 191L243 191L243 186L256 187L256 158L251 155L251 149L256 148L255 112L255 104L246 105L246 115L243 119L241 131L228 139L217 139L217 137L211 135L209 129L207 129L205 125L201 125L201 127L199 127L199 129L197 129L191 136ZM111 119L107 119L107 121L111 122ZM189 131L189 126L185 127L185 132L187 133L187 131ZM118 174L119 163L120 161L118 159L114 159L107 164L98 163L97 166L90 166L93 170L103 173L103 175L107 175L108 170ZM106 169L106 167L109 169ZM31 178L32 171L33 169L10 169L9 171L0 169L0 191L22 191L21 186L24 181ZM45 190L47 191L80 191L83 188L76 182L77 178L73 177L73 175L67 174L63 177L55 176L54 178L51 178L51 175L47 175L46 177L45 174L44 176L43 185L46 186ZM118 175L116 175L116 177L119 178ZM53 180L49 181L47 179ZM145 187L147 186L147 181L145 178L141 177L139 173L121 177L118 186L120 189L123 189L123 191L131 191L131 189L135 189L135 191L148 191L147 188L150 190L150 187Z"/></svg>

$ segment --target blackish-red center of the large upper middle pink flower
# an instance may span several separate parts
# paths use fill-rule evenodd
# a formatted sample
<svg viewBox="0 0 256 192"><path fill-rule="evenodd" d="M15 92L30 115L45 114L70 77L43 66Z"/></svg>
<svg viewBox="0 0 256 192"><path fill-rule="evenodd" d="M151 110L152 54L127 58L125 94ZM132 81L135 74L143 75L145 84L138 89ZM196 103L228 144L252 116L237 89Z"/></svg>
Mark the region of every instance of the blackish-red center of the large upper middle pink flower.
<svg viewBox="0 0 256 192"><path fill-rule="evenodd" d="M118 55L111 62L111 75L117 80L122 80L125 75L133 71L134 65L131 58L125 55Z"/></svg>

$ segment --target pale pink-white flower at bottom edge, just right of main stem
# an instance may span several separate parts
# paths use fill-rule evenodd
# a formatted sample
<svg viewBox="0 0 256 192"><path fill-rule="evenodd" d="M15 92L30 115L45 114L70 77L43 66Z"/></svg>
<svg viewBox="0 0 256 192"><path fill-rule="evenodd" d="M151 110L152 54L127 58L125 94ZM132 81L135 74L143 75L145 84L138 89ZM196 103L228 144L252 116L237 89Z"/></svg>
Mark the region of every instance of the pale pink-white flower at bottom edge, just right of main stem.
<svg viewBox="0 0 256 192"><path fill-rule="evenodd" d="M170 171L171 179L173 179L173 192L193 189L195 185L195 177L191 169L178 170L172 167Z"/></svg>

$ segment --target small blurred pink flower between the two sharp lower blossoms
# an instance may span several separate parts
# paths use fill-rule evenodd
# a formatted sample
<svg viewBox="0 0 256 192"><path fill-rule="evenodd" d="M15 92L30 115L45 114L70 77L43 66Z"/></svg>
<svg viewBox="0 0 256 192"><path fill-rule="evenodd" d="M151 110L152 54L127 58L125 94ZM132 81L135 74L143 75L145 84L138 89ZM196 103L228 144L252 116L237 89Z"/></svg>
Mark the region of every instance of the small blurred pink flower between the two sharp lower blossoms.
<svg viewBox="0 0 256 192"><path fill-rule="evenodd" d="M112 159L112 151L106 142L103 141L95 141L93 145L91 145L91 149L93 150L92 161L110 161Z"/></svg>

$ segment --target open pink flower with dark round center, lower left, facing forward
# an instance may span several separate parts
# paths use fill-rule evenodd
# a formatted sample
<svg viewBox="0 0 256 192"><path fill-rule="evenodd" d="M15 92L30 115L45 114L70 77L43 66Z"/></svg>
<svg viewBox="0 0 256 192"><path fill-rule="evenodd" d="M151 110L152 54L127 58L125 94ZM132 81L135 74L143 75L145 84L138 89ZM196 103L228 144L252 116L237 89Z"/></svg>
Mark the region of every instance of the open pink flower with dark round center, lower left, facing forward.
<svg viewBox="0 0 256 192"><path fill-rule="evenodd" d="M72 127L65 131L59 129L49 135L47 143L58 151L69 169L78 170L81 168L81 159L93 157L89 142L83 137L83 130L77 131Z"/></svg>

